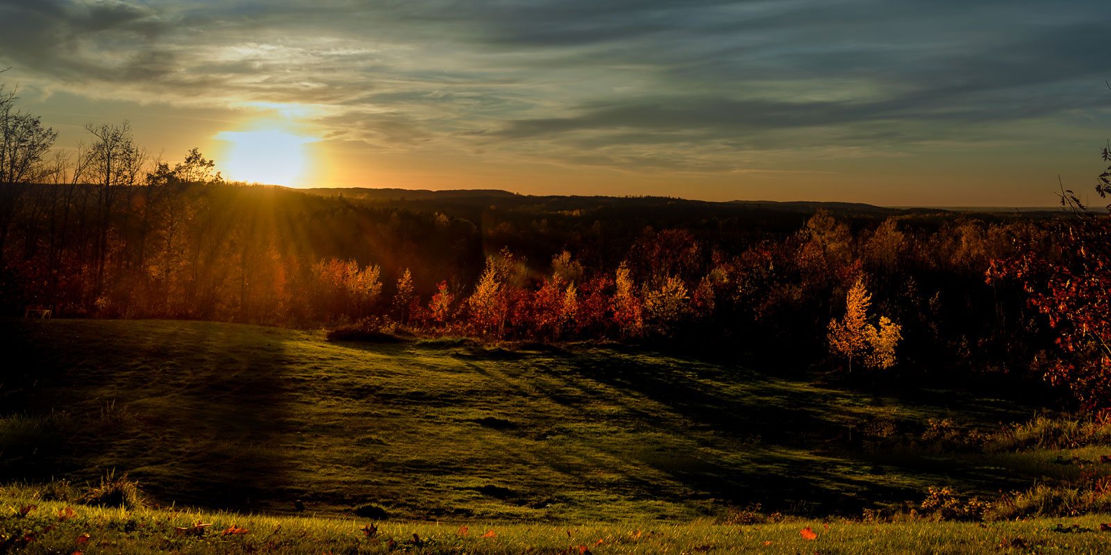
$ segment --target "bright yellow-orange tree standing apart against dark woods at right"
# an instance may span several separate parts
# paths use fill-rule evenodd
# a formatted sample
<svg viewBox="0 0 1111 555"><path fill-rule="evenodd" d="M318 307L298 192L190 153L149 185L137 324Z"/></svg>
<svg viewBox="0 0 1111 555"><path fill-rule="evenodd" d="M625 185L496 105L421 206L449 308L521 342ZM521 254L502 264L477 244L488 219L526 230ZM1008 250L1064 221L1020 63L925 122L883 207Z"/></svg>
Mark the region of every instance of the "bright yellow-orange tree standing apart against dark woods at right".
<svg viewBox="0 0 1111 555"><path fill-rule="evenodd" d="M872 369L889 369L895 364L895 347L902 339L902 329L887 316L880 316L879 325L869 323L871 305L872 294L863 280L857 280L845 295L844 316L829 323L830 353L848 361L850 372L854 360Z"/></svg>

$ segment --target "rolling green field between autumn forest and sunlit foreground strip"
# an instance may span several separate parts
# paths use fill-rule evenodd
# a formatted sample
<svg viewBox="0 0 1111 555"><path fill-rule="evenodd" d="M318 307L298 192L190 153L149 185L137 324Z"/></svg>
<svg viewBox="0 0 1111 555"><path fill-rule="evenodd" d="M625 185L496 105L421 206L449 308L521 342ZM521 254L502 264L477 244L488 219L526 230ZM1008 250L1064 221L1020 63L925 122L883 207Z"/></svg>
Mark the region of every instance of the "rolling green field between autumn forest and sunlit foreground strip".
<svg viewBox="0 0 1111 555"><path fill-rule="evenodd" d="M374 505L398 519L502 523L687 522L751 503L860 515L929 486L992 497L1075 480L1073 454L1104 452L942 448L922 440L929 418L998 430L1030 407L960 391L865 394L620 347L333 344L169 321L7 321L0 332L14 361L0 377L0 482L94 485L114 470L162 505L272 514L303 500L318 514ZM673 534L740 546L737 531L690 526Z"/></svg>

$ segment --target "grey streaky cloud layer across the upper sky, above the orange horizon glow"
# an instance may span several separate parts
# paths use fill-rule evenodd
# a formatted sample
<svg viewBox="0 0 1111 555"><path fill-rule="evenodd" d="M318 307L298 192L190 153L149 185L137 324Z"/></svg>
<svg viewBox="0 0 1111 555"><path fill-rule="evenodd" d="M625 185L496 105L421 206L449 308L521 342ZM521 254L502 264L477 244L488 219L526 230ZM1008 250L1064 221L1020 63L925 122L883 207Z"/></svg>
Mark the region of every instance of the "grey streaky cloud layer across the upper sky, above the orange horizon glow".
<svg viewBox="0 0 1111 555"><path fill-rule="evenodd" d="M90 98L310 107L326 137L378 151L733 171L834 141L875 155L989 144L1014 122L1101 110L1109 13L1080 0L0 0L0 60Z"/></svg>

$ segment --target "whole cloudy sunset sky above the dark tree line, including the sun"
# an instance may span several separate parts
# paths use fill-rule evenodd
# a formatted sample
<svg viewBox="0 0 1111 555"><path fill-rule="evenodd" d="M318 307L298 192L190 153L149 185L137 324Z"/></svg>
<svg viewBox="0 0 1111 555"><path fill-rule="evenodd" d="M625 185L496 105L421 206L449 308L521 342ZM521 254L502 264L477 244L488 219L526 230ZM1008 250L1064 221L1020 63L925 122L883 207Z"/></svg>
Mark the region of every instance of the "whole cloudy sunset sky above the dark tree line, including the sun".
<svg viewBox="0 0 1111 555"><path fill-rule="evenodd" d="M88 141L294 186L1052 205L1111 138L1105 0L0 0Z"/></svg>

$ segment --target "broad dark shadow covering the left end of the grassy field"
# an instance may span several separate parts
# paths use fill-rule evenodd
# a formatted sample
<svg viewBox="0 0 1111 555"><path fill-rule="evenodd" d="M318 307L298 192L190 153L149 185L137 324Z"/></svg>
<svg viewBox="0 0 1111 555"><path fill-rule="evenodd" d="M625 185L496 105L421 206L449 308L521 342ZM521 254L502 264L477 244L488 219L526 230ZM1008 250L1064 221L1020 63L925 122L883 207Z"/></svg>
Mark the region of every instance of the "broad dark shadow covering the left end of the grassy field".
<svg viewBox="0 0 1111 555"><path fill-rule="evenodd" d="M282 492L288 461L277 447L288 385L281 334L227 324L102 322L106 333L93 336L73 324L3 324L18 361L0 397L3 412L66 414L68 422L61 437L43 437L64 447L44 445L42 456L20 461L0 455L0 480L94 481L114 468L162 503L247 509ZM112 334L119 325L129 332ZM74 331L43 333L43 326ZM59 336L66 345L46 342Z"/></svg>

